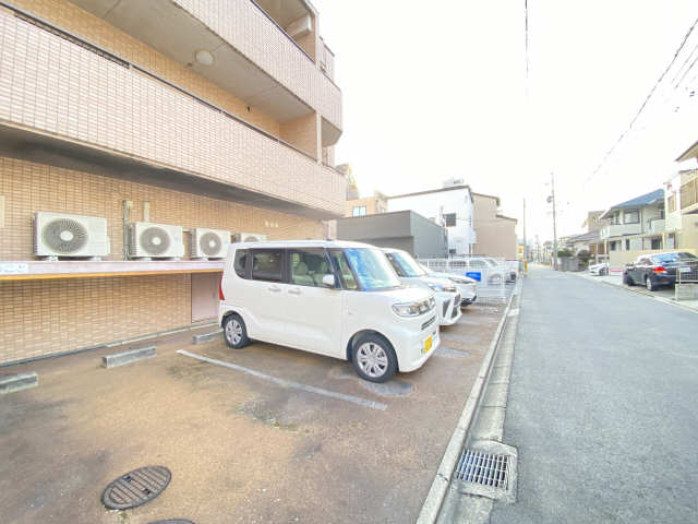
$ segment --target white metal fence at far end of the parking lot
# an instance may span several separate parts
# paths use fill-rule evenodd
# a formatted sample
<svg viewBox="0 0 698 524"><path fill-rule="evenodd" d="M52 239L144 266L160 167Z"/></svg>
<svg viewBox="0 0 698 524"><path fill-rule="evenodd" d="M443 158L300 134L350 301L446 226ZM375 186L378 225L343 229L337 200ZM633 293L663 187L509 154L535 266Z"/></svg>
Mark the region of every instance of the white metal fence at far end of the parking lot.
<svg viewBox="0 0 698 524"><path fill-rule="evenodd" d="M504 259L491 259L496 265L478 258L421 259L419 262L436 273L468 276L478 283L478 302L505 303L510 288L507 283L514 271ZM517 266L518 267L518 266Z"/></svg>

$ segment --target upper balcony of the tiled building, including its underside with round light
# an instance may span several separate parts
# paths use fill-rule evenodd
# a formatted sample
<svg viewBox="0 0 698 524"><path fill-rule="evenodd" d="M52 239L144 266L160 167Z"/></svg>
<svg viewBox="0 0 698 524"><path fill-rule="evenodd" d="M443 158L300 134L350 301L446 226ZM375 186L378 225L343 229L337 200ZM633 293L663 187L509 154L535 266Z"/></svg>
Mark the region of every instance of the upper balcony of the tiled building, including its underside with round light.
<svg viewBox="0 0 698 524"><path fill-rule="evenodd" d="M285 29L252 0L73 0L75 4L279 122L313 110L341 133L341 93ZM208 51L213 63L195 59Z"/></svg>

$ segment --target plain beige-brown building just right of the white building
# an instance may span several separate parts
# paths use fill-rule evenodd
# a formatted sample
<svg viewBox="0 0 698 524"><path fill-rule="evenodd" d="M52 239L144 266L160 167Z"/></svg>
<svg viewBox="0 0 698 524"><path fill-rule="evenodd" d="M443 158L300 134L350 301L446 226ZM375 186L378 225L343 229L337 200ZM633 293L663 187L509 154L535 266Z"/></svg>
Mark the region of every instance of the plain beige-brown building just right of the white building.
<svg viewBox="0 0 698 524"><path fill-rule="evenodd" d="M518 221L500 214L498 196L472 193L472 201L473 227L478 238L478 242L472 247L472 254L515 260L518 255Z"/></svg>

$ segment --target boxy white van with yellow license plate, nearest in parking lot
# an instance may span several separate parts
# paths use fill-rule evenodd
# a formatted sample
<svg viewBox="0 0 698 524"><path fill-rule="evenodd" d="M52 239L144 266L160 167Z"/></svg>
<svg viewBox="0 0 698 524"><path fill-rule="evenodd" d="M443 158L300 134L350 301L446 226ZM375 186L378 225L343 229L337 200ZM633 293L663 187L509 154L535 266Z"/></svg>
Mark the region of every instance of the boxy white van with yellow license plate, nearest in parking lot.
<svg viewBox="0 0 698 524"><path fill-rule="evenodd" d="M363 379L385 382L434 354L435 309L373 246L240 242L228 251L218 322L236 349L269 342L350 360Z"/></svg>

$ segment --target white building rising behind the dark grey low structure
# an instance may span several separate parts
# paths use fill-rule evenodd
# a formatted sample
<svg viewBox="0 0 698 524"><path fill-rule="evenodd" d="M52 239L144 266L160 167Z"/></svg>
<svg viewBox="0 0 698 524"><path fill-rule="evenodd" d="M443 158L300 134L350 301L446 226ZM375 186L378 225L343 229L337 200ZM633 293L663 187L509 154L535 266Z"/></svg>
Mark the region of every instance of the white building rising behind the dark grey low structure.
<svg viewBox="0 0 698 524"><path fill-rule="evenodd" d="M462 180L447 180L441 189L388 196L387 211L414 211L446 228L449 254L472 254L477 241L472 193Z"/></svg>

